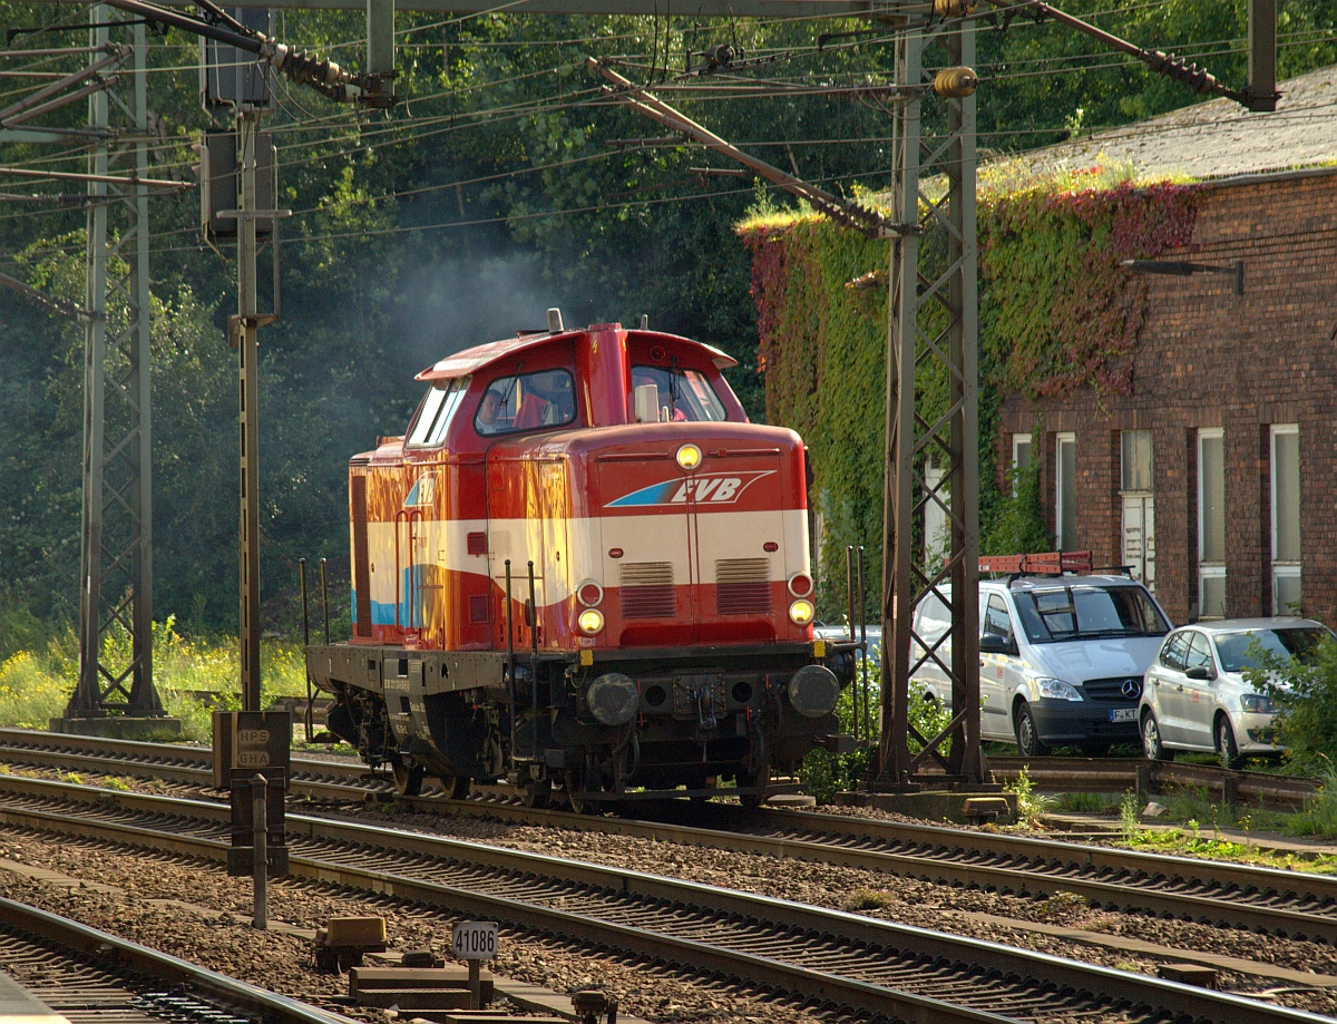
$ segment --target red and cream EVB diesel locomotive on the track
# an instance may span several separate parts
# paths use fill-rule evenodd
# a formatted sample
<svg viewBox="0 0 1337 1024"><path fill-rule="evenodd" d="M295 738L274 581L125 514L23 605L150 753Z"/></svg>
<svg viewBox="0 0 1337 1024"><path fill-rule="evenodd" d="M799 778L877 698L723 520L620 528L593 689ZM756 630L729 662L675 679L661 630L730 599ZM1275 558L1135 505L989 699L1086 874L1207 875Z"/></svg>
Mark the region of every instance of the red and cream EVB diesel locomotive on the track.
<svg viewBox="0 0 1337 1024"><path fill-rule="evenodd" d="M548 315L420 373L406 433L353 457L353 636L306 655L329 729L401 793L755 803L848 743L802 441L747 422L718 349Z"/></svg>

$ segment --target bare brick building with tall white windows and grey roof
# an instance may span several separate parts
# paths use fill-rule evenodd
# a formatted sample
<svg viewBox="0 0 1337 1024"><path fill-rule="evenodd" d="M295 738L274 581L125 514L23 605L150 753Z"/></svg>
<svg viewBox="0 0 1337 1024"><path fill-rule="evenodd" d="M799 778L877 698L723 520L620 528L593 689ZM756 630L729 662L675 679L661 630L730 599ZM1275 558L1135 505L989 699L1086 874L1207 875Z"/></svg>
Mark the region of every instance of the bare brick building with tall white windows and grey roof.
<svg viewBox="0 0 1337 1024"><path fill-rule="evenodd" d="M1132 565L1175 623L1337 626L1337 70L1282 90L1273 115L1205 103L1032 158L1203 182L1191 243L1161 261L1243 265L1241 295L1229 274L1146 278L1131 396L1001 410L1000 467L1040 461L1058 543Z"/></svg>

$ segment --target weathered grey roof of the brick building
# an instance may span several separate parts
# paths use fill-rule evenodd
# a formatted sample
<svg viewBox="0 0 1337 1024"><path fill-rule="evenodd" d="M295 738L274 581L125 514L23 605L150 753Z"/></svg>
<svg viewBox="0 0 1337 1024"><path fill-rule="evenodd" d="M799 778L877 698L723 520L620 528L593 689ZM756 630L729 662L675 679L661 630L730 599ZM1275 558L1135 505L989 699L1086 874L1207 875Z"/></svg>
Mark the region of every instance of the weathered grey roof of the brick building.
<svg viewBox="0 0 1337 1024"><path fill-rule="evenodd" d="M1284 82L1278 91L1282 96L1271 114L1215 99L1034 150L1020 162L1040 176L1124 164L1136 178L1194 179L1337 162L1337 66Z"/></svg>

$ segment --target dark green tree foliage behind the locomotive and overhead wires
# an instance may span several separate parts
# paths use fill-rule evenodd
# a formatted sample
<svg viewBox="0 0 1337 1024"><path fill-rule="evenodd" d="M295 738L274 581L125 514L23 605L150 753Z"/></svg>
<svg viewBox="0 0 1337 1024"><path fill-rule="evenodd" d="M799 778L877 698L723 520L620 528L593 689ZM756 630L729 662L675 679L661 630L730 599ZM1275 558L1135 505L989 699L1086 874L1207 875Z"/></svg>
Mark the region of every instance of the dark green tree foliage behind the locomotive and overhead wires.
<svg viewBox="0 0 1337 1024"><path fill-rule="evenodd" d="M1072 9L1094 15L1098 5L1080 0ZM1213 70L1238 83L1242 12L1243 0L1210 9L1170 0L1096 20L1143 44L1210 53ZM66 5L0 0L8 28L56 27L19 36L19 48L82 45L84 29L60 25L83 17ZM1282 19L1286 74L1333 59L1322 35L1332 27L1329 5L1285 4ZM275 33L357 68L364 24L360 12L283 11ZM638 322L646 314L655 328L718 345L739 360L729 376L746 408L765 414L747 294L753 257L731 235L755 203L754 184L694 174L727 167L699 148L610 144L667 132L600 98L587 56L623 55L628 78L662 84L668 102L718 134L836 191L884 186L890 160L889 107L866 96L785 91L886 82L890 35L817 51L821 33L865 29L864 20L401 12L397 27L404 102L394 110L336 107L281 84L266 118L279 154L278 205L294 215L282 229L283 317L261 336L262 596L269 627L289 635L299 557L309 559L313 579L314 560L330 559L334 607L346 616L348 457L402 429L418 398L412 374L449 352L540 325L547 306L560 306L568 324ZM673 80L689 49L718 41L775 57L739 75L775 88L739 95L714 88L734 80ZM1100 126L1189 100L1122 60L1074 70L1092 61L1071 57L1090 52L1090 43L1054 24L981 29L983 143L1054 140L1079 107L1083 126ZM197 40L176 29L151 39L155 176L194 182L198 132L229 124L199 107L197 53ZM5 71L32 63L7 60ZM72 71L83 60L53 59L40 70ZM4 82L5 90L20 88ZM7 92L0 103L17 95ZM79 127L84 118L83 104L71 104L41 123ZM40 166L33 162L67 150L4 144L0 160ZM82 170L72 152L51 166ZM114 231L123 230L118 210L111 218ZM82 301L84 219L78 205L7 203L0 270ZM201 242L198 219L194 190L151 201L155 610L158 618L175 612L191 630L222 630L234 624L237 600L235 354L225 330L235 309L235 266L230 246L215 253ZM856 238L828 245L828 277L804 283L814 294L885 266L885 253ZM261 299L269 306L275 297L265 270ZM862 305L837 311L826 328L832 346L812 356L860 370L842 384L853 414L820 424L814 451L860 453L848 491L829 499L826 516L842 524L840 543L870 551L878 547L866 524L878 515L881 467L868 453L878 448L872 421L882 385L877 360L858 349L858 338L882 315L880 301L869 293L860 295ZM33 622L68 622L76 610L82 345L76 325L0 293L0 630L9 636ZM812 380L806 396L794 390L786 401L812 406ZM876 579L876 565L870 571Z"/></svg>

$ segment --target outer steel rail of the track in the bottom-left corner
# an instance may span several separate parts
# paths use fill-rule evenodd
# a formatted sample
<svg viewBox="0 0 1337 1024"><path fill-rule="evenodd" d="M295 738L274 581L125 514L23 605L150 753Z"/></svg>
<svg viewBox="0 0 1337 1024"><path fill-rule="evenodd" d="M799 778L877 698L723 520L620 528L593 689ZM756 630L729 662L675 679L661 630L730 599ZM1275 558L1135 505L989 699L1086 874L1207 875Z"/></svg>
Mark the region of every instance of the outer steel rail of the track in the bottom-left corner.
<svg viewBox="0 0 1337 1024"><path fill-rule="evenodd" d="M98 969L108 977L123 979L126 975L138 975L142 980L152 979L159 985L182 987L183 991L172 993L172 999L183 1003L183 995L189 993L194 1000L206 1003L206 1005L194 1008L182 1005L175 1008L179 1013L194 1009L194 1012L201 1013L195 1019L209 1019L203 1015L214 1011L215 1019L229 1020L229 1015L219 1013L219 1011L226 1009L235 1013L238 1008L242 1008L273 1024L357 1024L341 1013L332 1013L246 981L219 975L128 938L100 932L36 906L0 898L0 936L8 937L7 933L28 937L35 948L70 950L90 963L96 963ZM127 1019L123 1007L108 1008L120 1011L112 1017L114 1020ZM152 1008L151 1001L148 1008ZM80 1020L91 1019L91 1012L95 1009L96 1007L80 1007ZM163 1009L168 1008L163 1007Z"/></svg>

